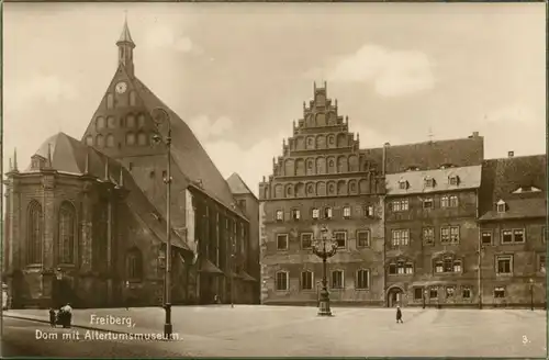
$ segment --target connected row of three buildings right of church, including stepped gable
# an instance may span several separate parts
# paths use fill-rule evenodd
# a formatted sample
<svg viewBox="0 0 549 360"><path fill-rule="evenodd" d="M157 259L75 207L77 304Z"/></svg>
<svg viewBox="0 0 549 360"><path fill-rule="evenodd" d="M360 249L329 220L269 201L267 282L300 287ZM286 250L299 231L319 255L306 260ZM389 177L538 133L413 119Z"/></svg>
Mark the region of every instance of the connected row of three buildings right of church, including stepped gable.
<svg viewBox="0 0 549 360"><path fill-rule="evenodd" d="M264 304L317 300L325 224L336 304L545 306L546 156L484 160L477 132L360 149L326 86L303 108L259 184Z"/></svg>

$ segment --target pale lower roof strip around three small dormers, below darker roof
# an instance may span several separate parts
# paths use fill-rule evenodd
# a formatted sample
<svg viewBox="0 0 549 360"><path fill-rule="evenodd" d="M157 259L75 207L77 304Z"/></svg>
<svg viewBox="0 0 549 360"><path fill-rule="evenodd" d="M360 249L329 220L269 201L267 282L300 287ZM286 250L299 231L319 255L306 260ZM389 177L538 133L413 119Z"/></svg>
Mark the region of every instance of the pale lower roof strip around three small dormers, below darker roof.
<svg viewBox="0 0 549 360"><path fill-rule="evenodd" d="M438 191L452 191L475 189L481 185L482 166L461 168L447 168L437 170L416 170L385 176L388 195L405 195L413 193L429 193ZM457 177L457 184L450 184L450 178ZM434 180L433 187L425 187L425 180ZM401 189L401 182L405 189Z"/></svg>

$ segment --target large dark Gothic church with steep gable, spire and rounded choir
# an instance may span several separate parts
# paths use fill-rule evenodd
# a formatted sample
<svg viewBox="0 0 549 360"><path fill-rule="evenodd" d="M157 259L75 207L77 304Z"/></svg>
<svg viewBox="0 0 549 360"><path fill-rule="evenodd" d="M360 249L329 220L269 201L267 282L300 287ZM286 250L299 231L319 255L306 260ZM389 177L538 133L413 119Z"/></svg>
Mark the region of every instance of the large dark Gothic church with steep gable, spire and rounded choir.
<svg viewBox="0 0 549 360"><path fill-rule="evenodd" d="M172 303L253 302L255 220L189 126L137 79L126 22L116 45L116 71L82 142L58 134L31 168L20 171L14 158L7 175L12 306L161 302L167 154L152 139L167 126L153 122L155 108L171 125Z"/></svg>

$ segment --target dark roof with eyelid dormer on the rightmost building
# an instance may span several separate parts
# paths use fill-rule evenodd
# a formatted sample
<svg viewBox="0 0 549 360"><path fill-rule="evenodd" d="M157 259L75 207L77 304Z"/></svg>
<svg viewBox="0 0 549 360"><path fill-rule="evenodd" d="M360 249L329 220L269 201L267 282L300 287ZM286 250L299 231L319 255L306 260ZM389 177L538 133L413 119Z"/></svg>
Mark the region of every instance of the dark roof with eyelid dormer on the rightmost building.
<svg viewBox="0 0 549 360"><path fill-rule="evenodd" d="M530 201L536 198L545 200L547 191L546 160L546 155L485 160L482 167L482 184L479 196L481 216L495 211L495 203L500 200L507 202L509 212L514 200ZM518 188L529 187L535 187L541 191L514 193ZM527 203L522 202L522 204Z"/></svg>

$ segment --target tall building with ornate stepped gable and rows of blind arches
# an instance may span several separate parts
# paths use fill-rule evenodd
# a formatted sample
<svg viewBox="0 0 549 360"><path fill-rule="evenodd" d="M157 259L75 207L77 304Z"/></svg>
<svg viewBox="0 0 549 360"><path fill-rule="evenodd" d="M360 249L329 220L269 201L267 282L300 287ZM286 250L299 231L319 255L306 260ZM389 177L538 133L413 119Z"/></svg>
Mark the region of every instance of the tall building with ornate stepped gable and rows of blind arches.
<svg viewBox="0 0 549 360"><path fill-rule="evenodd" d="M361 154L326 85L313 95L259 184L261 302L316 303L323 270L312 243L326 224L338 244L329 260L332 300L382 304L381 162Z"/></svg>

